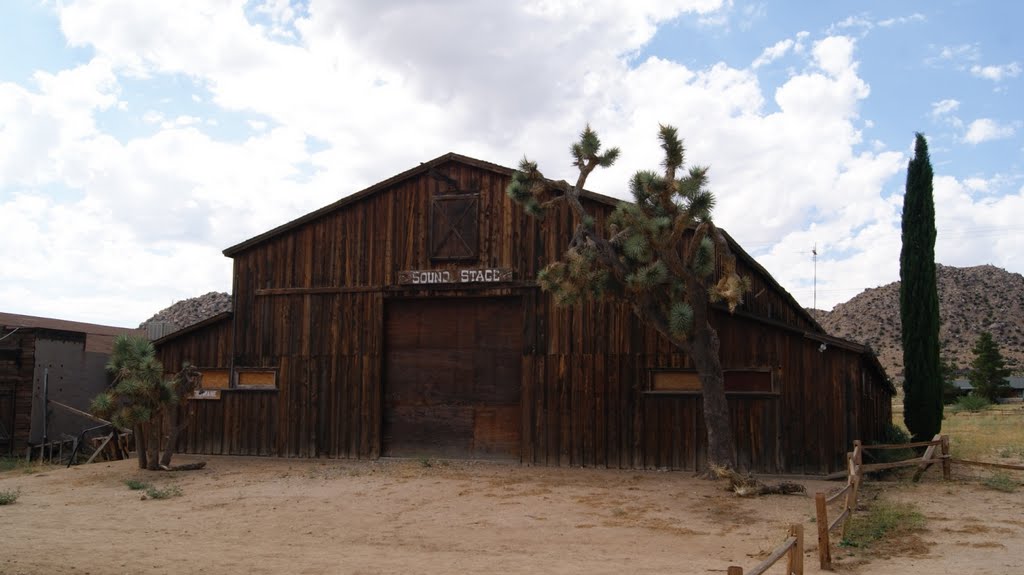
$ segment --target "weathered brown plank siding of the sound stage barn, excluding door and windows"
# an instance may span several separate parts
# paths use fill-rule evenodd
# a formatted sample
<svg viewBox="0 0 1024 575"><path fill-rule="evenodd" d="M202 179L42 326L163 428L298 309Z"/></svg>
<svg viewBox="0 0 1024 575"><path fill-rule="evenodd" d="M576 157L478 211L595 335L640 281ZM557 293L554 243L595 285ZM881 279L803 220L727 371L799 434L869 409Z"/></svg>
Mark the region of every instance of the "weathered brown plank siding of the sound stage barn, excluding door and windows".
<svg viewBox="0 0 1024 575"><path fill-rule="evenodd" d="M231 328L188 334L161 346L161 353L169 364L190 359L274 369L278 389L227 390L220 400L199 402L182 448L380 456L387 303L511 297L522 308L521 461L699 468L699 396L649 390L651 368L687 368L687 358L625 306L556 307L536 286L538 270L566 247L567 218L528 217L505 194L507 171L456 160L429 167L444 177L420 170L232 249ZM432 260L431 198L460 192L478 193L478 257ZM599 227L612 209L595 200L587 206ZM511 269L513 278L433 286L398 280L407 270L467 267ZM819 344L803 335L818 327L796 302L745 256L738 268L751 275L754 290L742 315L716 315L723 363L770 369L776 382L771 394L730 395L739 459L761 471L835 471L853 431L869 440L884 425L879 422L888 421L883 382L867 374L870 366L858 353L818 352Z"/></svg>

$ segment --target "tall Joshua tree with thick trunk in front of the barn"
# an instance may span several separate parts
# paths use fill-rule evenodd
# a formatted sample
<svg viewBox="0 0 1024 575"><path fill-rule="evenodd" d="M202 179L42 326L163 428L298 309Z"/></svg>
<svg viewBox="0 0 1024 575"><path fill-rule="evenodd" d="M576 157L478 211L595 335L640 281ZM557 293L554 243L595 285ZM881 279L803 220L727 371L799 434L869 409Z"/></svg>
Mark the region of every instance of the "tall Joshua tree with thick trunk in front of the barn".
<svg viewBox="0 0 1024 575"><path fill-rule="evenodd" d="M574 224L568 249L561 261L538 273L538 282L559 304L602 297L624 301L682 350L696 368L703 392L708 462L712 469L733 469L732 429L710 304L724 302L734 310L750 280L736 274L735 257L712 222L715 196L706 187L708 169L683 172L683 142L672 126L662 126L658 138L664 171L633 176L633 202L615 208L604 233L595 229L580 195L591 172L611 166L618 148L602 151L590 126L570 147L580 172L574 184L548 180L536 163L523 159L508 194L537 217L558 204L568 205ZM721 262L717 275L716 260Z"/></svg>

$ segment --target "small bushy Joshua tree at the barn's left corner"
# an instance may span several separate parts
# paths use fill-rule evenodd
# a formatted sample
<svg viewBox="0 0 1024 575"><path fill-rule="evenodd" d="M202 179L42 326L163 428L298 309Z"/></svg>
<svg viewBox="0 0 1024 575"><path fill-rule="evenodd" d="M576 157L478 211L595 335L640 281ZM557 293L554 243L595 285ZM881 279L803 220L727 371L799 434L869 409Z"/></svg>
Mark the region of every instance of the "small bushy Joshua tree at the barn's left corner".
<svg viewBox="0 0 1024 575"><path fill-rule="evenodd" d="M184 427L177 423L177 406L196 390L199 372L186 364L173 378L165 378L153 343L139 336L118 336L114 340L106 370L114 375L114 383L93 398L92 412L133 430L139 469L166 469ZM161 455L165 417L170 433Z"/></svg>

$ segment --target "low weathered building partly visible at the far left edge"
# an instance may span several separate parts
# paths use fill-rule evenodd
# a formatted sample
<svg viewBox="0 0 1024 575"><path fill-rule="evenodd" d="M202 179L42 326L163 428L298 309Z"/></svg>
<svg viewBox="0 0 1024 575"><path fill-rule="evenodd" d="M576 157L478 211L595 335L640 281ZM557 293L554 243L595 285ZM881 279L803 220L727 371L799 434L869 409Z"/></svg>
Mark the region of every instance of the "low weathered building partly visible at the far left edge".
<svg viewBox="0 0 1024 575"><path fill-rule="evenodd" d="M0 312L0 454L95 426L47 400L88 410L110 383L106 359L120 334L141 331Z"/></svg>

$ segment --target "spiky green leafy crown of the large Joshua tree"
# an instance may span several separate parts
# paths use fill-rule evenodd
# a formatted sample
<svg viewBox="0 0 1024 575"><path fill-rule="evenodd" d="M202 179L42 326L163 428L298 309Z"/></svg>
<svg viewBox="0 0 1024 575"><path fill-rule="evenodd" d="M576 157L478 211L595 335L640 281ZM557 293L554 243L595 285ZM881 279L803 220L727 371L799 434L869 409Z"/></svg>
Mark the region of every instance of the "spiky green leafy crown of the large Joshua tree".
<svg viewBox="0 0 1024 575"><path fill-rule="evenodd" d="M724 302L735 310L750 290L750 280L736 273L735 259L711 223L715 195L707 188L708 169L691 167L677 177L685 161L683 142L672 126L660 126L658 138L665 171L634 174L633 202L620 204L609 216L603 240L594 230L593 217L578 208L578 202L570 202L577 216L570 249L564 261L542 270L538 280L560 304L608 294L643 297L660 310L673 336L687 339L693 326L691 297ZM523 159L512 175L508 195L528 213L543 217L572 194L578 198L587 175L618 157L617 148L601 152L601 140L590 126L569 151L581 174L577 186L545 179L537 163ZM694 248L687 257L684 235L689 230ZM721 263L717 280L716 262ZM687 293L687 274L703 284L701 294Z"/></svg>

